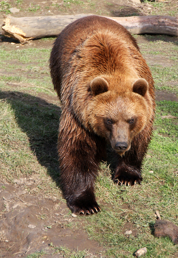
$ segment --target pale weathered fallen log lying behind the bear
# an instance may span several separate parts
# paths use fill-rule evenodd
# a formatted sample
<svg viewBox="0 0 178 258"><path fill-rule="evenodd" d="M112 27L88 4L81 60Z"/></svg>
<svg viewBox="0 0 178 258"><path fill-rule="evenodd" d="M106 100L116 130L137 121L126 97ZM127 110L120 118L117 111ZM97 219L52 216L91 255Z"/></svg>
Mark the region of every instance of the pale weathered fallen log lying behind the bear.
<svg viewBox="0 0 178 258"><path fill-rule="evenodd" d="M91 14L88 14L91 15ZM69 23L87 16L54 15L34 17L7 16L2 25L2 34L25 43L30 39L58 36ZM178 36L178 17L171 16L131 16L107 17L123 25L132 34L165 34Z"/></svg>

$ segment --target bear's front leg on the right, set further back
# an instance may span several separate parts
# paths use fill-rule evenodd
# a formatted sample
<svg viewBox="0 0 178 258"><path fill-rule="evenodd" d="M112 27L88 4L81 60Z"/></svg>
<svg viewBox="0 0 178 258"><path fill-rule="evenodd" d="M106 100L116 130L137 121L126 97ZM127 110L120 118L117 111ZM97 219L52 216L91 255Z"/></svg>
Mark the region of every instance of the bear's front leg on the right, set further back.
<svg viewBox="0 0 178 258"><path fill-rule="evenodd" d="M121 185L141 183L141 167L150 142L151 133L142 131L142 134L144 137L142 135L137 135L131 143L130 150L125 152L122 157L116 153L117 167L114 171L115 183Z"/></svg>

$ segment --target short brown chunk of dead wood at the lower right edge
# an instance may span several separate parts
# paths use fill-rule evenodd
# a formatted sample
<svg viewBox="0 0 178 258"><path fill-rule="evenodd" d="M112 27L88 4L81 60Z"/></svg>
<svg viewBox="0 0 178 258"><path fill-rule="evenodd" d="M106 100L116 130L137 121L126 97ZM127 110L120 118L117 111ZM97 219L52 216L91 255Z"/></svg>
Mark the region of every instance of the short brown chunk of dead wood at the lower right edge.
<svg viewBox="0 0 178 258"><path fill-rule="evenodd" d="M178 226L168 220L157 219L154 225L154 236L169 236L172 241L178 244Z"/></svg>

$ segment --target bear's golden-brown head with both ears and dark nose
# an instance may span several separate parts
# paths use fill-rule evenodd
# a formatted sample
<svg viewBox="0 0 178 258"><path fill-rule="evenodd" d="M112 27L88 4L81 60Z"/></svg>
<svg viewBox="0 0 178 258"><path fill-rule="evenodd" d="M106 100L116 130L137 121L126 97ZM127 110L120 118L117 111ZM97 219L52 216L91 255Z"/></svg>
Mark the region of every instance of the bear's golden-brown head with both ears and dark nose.
<svg viewBox="0 0 178 258"><path fill-rule="evenodd" d="M91 81L91 101L85 121L97 135L110 142L120 155L128 151L133 137L139 134L152 116L152 100L148 83L143 78L128 85L113 87L110 81L96 77Z"/></svg>

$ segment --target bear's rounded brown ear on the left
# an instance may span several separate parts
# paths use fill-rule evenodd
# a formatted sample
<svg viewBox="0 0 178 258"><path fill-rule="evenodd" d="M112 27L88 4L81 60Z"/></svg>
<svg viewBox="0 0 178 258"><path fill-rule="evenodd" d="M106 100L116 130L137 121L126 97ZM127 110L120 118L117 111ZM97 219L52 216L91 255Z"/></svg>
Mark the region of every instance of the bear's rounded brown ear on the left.
<svg viewBox="0 0 178 258"><path fill-rule="evenodd" d="M90 89L94 96L108 91L108 83L101 77L96 77L90 83Z"/></svg>

